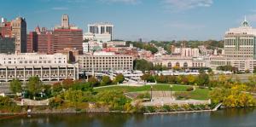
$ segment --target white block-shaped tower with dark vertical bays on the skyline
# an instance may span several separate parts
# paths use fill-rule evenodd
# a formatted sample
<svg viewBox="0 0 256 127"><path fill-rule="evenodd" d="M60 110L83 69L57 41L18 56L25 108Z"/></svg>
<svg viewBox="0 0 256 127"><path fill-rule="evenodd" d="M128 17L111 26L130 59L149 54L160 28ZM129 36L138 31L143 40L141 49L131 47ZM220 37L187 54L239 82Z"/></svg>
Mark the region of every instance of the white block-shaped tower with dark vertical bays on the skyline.
<svg viewBox="0 0 256 127"><path fill-rule="evenodd" d="M88 25L88 33L84 33L84 39L108 42L113 39L113 24L95 23Z"/></svg>

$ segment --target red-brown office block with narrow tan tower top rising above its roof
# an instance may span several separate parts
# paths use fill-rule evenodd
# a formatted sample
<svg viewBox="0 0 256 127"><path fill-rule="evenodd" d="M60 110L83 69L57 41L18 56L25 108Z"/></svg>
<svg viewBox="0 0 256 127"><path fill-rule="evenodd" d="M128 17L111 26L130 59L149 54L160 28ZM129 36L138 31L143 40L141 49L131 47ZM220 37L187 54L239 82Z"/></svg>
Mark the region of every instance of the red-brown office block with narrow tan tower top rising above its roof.
<svg viewBox="0 0 256 127"><path fill-rule="evenodd" d="M62 19L68 19L67 15L63 15ZM65 21L66 21L65 20ZM64 21L64 22L65 22ZM68 21L61 26L56 26L53 32L53 50L54 53L62 49L71 48L82 50L83 30L76 26L67 26ZM67 26L67 27L66 27Z"/></svg>

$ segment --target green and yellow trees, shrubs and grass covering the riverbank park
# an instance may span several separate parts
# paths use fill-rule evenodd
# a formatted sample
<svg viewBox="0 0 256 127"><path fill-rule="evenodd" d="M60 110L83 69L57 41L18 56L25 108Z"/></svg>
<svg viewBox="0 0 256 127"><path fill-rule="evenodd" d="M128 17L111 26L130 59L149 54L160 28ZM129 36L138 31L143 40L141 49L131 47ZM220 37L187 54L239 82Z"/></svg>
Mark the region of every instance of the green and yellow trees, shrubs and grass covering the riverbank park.
<svg viewBox="0 0 256 127"><path fill-rule="evenodd" d="M82 80L72 81L65 79L53 85L43 84L38 78L31 78L26 88L21 88L19 81L11 83L13 93L22 91L22 96L27 99L44 101L49 99L48 106L18 106L15 101L21 101L19 95L0 96L0 114L29 114L32 113L195 113L212 111L219 103L225 108L255 107L253 97L255 91L254 75L248 83L220 75L218 79L212 78L206 73L199 76L152 76L144 74L143 80L150 82L152 78L157 84L143 86L113 85L122 84L124 78L113 79L89 78L87 82ZM153 81L153 80L152 80ZM108 86L113 85L113 86ZM104 86L101 88L101 86ZM108 86L108 87L105 87ZM144 101L150 101L150 92L170 93L171 98L177 101L206 101L210 104L162 104L161 106L144 106ZM133 97L127 97L127 93L136 93ZM165 94L163 94L165 95ZM172 96L173 95L173 96ZM132 96L132 95L131 95ZM166 96L155 96L155 98ZM154 96L153 96L154 99Z"/></svg>

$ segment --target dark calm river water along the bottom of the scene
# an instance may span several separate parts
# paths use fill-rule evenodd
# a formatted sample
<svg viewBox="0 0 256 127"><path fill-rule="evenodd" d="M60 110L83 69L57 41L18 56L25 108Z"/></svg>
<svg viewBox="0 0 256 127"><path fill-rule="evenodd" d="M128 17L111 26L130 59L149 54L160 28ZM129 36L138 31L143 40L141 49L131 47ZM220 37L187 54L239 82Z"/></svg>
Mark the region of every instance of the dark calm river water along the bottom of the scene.
<svg viewBox="0 0 256 127"><path fill-rule="evenodd" d="M3 118L3 117L2 117ZM0 127L256 127L256 110L160 115L79 113L0 119Z"/></svg>

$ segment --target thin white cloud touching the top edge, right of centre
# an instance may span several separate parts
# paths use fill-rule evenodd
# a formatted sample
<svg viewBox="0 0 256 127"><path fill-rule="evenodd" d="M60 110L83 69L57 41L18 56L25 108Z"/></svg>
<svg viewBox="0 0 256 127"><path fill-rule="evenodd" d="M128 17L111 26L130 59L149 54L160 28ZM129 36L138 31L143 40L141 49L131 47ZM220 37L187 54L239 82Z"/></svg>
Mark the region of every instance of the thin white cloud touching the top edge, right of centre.
<svg viewBox="0 0 256 127"><path fill-rule="evenodd" d="M181 11L195 9L197 7L210 7L213 0L162 0L166 9L171 11Z"/></svg>

